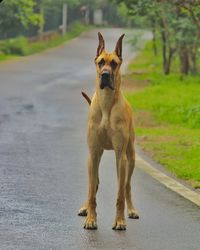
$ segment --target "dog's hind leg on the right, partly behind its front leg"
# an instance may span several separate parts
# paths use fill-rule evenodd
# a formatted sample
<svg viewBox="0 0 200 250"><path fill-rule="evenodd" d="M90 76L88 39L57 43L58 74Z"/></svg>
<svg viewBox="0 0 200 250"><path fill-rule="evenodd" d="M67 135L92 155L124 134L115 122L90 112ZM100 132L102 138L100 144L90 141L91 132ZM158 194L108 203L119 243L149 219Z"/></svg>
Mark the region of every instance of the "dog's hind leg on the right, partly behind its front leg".
<svg viewBox="0 0 200 250"><path fill-rule="evenodd" d="M130 139L127 147L127 175L126 175L126 204L128 209L128 217L132 219L139 219L138 212L133 206L133 201L131 197L131 177L135 167L135 150L133 145L133 140Z"/></svg>

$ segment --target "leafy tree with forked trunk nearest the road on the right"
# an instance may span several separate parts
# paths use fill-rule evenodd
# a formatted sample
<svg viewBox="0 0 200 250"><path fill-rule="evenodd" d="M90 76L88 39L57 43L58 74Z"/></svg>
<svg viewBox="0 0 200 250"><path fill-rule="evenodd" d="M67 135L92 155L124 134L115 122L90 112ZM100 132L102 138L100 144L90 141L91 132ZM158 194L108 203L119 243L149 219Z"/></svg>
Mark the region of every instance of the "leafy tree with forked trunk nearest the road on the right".
<svg viewBox="0 0 200 250"><path fill-rule="evenodd" d="M121 2L121 0L118 1ZM146 18L146 25L152 30L153 49L155 54L157 54L156 31L158 30L160 33L162 41L163 71L165 74L169 74L171 61L176 51L172 29L170 27L172 13L166 11L170 8L170 5L167 2L162 2L161 5L155 0L125 0L125 3L129 8L130 15L144 16Z"/></svg>

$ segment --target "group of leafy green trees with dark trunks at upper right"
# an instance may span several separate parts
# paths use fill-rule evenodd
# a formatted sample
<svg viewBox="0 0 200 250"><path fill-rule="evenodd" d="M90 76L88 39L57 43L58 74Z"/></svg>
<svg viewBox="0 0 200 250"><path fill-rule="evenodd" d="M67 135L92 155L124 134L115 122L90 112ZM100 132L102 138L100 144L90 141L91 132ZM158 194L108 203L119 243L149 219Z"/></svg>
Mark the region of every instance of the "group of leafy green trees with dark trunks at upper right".
<svg viewBox="0 0 200 250"><path fill-rule="evenodd" d="M197 0L117 0L127 5L130 16L145 17L153 33L154 53L162 42L163 71L170 74L179 58L181 74L196 73L200 47L200 2ZM195 24L195 25L194 25Z"/></svg>

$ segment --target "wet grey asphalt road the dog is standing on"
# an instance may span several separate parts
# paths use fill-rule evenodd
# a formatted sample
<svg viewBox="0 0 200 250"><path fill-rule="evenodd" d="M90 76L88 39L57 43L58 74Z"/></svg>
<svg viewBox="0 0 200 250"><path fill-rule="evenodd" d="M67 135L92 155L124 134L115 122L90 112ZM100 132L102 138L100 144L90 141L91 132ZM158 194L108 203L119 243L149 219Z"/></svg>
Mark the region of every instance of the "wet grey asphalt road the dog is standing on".
<svg viewBox="0 0 200 250"><path fill-rule="evenodd" d="M122 30L102 30L114 48ZM86 121L95 86L97 30L59 48L0 64L0 249L199 250L200 210L141 170L140 219L113 231L114 153L100 165L98 230L77 212L87 195ZM124 57L134 52L124 43ZM126 60L125 60L126 61Z"/></svg>

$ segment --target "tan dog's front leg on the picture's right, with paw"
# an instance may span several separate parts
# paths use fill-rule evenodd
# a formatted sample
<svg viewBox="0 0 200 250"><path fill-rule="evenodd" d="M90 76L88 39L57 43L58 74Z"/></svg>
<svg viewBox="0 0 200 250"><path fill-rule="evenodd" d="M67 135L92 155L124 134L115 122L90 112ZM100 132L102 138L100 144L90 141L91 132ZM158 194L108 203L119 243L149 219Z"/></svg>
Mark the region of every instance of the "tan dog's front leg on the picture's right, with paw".
<svg viewBox="0 0 200 250"><path fill-rule="evenodd" d="M116 202L116 218L113 225L115 230L125 230L126 221L124 217L125 208L125 176L126 176L126 154L119 151L116 153L118 192Z"/></svg>

